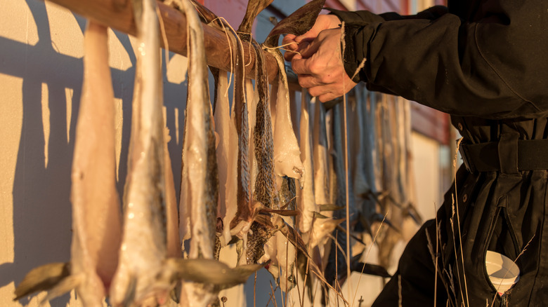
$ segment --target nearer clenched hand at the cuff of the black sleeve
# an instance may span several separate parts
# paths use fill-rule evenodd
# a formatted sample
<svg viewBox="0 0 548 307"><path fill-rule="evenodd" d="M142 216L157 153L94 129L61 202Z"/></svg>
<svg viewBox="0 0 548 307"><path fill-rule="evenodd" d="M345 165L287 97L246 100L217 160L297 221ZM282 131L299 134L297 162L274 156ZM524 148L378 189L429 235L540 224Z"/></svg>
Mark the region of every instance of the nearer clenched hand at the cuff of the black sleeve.
<svg viewBox="0 0 548 307"><path fill-rule="evenodd" d="M341 59L341 29L326 29L292 57L299 85L308 93L327 102L351 90L354 83L344 70Z"/></svg>

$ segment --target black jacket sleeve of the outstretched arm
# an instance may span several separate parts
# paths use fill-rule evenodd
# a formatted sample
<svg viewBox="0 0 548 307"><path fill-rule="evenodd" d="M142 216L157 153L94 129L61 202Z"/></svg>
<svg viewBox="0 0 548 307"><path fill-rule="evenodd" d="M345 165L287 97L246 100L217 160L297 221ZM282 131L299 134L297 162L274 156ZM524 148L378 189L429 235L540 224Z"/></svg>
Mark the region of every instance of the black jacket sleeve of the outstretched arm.
<svg viewBox="0 0 548 307"><path fill-rule="evenodd" d="M366 58L360 80L368 87L449 114L546 117L548 1L488 0L478 11L475 22L452 13L432 20L341 14L353 53L345 68Z"/></svg>

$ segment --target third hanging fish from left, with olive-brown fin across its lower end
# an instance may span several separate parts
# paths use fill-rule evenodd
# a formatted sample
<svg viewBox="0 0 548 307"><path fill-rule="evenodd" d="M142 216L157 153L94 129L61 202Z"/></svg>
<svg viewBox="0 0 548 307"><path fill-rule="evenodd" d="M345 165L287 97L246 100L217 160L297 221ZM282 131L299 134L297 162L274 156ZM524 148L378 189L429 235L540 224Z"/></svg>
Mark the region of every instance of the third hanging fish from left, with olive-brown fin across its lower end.
<svg viewBox="0 0 548 307"><path fill-rule="evenodd" d="M229 268L226 264L211 260L214 258L213 249L216 244L218 170L213 116L207 90L203 30L190 1L177 2L183 8L188 26L190 67L183 141L181 214L190 214L191 239L190 259L169 259L167 264L175 272L172 280L183 279L183 306L207 306L216 301L218 291L244 282L262 265ZM221 76L219 80L221 81ZM218 106L219 109L222 107ZM223 128L227 128L226 125ZM227 130L230 133L230 128ZM184 218L183 216L181 219Z"/></svg>

